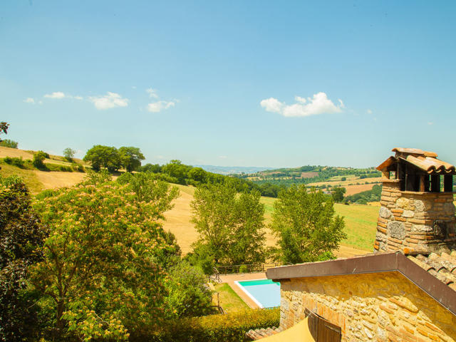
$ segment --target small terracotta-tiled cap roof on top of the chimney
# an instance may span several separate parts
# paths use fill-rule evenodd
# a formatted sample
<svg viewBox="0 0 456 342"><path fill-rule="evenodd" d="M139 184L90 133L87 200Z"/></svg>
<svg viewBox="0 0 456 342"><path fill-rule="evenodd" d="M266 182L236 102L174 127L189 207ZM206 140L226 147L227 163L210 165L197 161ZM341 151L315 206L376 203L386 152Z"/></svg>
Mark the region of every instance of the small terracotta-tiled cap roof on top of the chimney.
<svg viewBox="0 0 456 342"><path fill-rule="evenodd" d="M377 170L385 170L390 165L398 162L398 160L404 160L429 175L454 175L456 173L455 166L443 160L438 160L435 152L403 147L395 147L392 151L396 152L395 157L391 156L382 162L378 165Z"/></svg>

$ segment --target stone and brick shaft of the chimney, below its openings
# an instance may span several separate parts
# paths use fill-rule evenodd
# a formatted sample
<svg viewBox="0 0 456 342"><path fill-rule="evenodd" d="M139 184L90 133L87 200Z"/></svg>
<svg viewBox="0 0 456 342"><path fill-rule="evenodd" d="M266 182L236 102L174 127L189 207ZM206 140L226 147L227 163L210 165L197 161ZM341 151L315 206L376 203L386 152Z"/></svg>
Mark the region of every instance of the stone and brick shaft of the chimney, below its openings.
<svg viewBox="0 0 456 342"><path fill-rule="evenodd" d="M376 251L447 252L456 245L452 192L401 192L398 180L384 180L380 205Z"/></svg>

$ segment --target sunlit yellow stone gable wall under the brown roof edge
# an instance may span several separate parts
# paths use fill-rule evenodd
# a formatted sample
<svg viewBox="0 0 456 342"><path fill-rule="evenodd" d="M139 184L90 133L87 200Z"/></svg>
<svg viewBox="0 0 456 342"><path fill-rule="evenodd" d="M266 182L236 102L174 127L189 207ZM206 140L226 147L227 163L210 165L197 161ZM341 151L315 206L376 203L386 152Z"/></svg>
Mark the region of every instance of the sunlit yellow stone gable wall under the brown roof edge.
<svg viewBox="0 0 456 342"><path fill-rule="evenodd" d="M398 272L281 281L281 328L308 308L342 329L342 341L456 341L456 316Z"/></svg>

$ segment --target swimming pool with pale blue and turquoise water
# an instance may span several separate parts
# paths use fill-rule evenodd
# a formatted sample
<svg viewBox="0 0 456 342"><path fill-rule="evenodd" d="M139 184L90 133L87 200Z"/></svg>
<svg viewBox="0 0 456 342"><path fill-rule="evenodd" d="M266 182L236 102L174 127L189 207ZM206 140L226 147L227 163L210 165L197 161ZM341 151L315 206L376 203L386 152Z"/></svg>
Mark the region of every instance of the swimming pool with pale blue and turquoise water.
<svg viewBox="0 0 456 342"><path fill-rule="evenodd" d="M280 306L280 283L271 279L234 281L260 308Z"/></svg>

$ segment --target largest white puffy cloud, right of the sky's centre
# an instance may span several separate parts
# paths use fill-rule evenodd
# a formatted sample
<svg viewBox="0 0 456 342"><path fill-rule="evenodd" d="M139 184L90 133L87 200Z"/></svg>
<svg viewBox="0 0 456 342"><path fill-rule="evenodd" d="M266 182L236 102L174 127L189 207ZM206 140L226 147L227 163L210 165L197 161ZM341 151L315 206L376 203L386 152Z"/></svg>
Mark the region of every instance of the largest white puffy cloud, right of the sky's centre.
<svg viewBox="0 0 456 342"><path fill-rule="evenodd" d="M276 98L268 98L266 100L262 100L260 105L268 112L279 113L287 118L341 113L343 108L345 108L342 100L338 100L339 104L335 105L328 99L326 93L322 92L316 93L312 98L307 99L295 96L295 100L298 103L286 105L285 103L281 103Z"/></svg>

